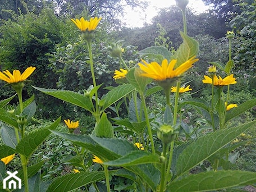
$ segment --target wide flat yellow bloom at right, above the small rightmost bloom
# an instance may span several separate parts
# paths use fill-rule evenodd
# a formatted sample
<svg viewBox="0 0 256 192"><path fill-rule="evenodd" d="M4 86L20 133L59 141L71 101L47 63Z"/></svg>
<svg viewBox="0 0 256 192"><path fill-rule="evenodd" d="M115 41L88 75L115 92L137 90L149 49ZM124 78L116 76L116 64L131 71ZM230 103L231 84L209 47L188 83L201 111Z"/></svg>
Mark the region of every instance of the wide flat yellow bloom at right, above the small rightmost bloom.
<svg viewBox="0 0 256 192"><path fill-rule="evenodd" d="M223 86L223 85L231 85L236 84L236 78L234 77L234 74L231 74L224 79L221 78L221 76L217 77L214 75L213 81L215 86ZM212 78L204 75L203 83L205 84L212 84Z"/></svg>

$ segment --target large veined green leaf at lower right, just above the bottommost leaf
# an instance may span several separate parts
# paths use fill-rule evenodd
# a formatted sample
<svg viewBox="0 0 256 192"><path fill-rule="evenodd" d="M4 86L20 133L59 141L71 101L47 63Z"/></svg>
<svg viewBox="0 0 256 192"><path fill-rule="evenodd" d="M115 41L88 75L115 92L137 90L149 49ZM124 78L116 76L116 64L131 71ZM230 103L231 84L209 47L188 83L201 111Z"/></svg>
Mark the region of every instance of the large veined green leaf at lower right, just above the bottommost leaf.
<svg viewBox="0 0 256 192"><path fill-rule="evenodd" d="M200 162L211 157L214 153L234 140L242 132L254 126L256 121L249 122L230 129L223 129L212 134L201 136L191 142L179 155L176 164L177 176L189 171Z"/></svg>

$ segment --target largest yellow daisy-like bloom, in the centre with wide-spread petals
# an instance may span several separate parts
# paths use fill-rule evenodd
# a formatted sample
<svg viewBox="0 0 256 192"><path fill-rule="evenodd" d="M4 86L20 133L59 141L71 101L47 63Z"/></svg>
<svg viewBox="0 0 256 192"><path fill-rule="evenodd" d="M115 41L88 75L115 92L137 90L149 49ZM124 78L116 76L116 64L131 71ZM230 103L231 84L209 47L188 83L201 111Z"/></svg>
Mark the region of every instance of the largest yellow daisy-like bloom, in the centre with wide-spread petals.
<svg viewBox="0 0 256 192"><path fill-rule="evenodd" d="M169 64L166 59L162 61L162 65L159 65L157 62L147 63L142 60L142 63L138 63L140 69L145 72L141 76L150 77L156 81L164 81L166 79L172 79L183 74L189 68L192 67L193 63L198 61L195 57L191 57L188 61L182 63L179 67L173 69L177 60L172 60Z"/></svg>

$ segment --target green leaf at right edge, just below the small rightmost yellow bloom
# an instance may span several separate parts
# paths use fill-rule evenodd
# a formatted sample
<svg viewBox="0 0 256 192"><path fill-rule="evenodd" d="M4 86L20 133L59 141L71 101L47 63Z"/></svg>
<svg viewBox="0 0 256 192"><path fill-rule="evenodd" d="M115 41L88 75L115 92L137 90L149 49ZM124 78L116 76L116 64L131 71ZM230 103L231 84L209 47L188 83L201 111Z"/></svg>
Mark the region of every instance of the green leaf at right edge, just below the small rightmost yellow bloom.
<svg viewBox="0 0 256 192"><path fill-rule="evenodd" d="M231 120L234 117L241 115L241 113L247 111L248 109L254 106L256 106L256 99L251 99L251 100L247 100L246 102L240 104L235 108L230 109L230 111L227 111L226 113L225 122Z"/></svg>

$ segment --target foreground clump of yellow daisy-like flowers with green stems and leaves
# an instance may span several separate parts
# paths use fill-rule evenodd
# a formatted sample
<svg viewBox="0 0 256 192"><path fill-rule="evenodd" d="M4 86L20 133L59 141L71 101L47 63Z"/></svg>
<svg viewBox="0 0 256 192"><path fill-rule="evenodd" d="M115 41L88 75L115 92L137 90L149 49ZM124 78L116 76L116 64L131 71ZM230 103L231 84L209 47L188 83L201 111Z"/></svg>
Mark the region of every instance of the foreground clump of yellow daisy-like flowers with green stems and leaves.
<svg viewBox="0 0 256 192"><path fill-rule="evenodd" d="M120 68L113 79L118 86L108 87L99 96L104 82L95 79L93 42L102 18L72 19L80 31L82 43L88 48L93 85L83 93L71 90L47 89L33 86L44 94L74 104L90 113L95 126L90 134L76 134L79 121L64 120L68 133L56 131L61 117L44 129L26 131L26 125L36 112L34 96L22 99L22 89L36 70L31 66L21 74L0 72L0 79L11 85L16 94L0 102L1 139L0 189L6 177L6 164L19 155L22 170L17 176L22 180L22 190L28 191L114 191L113 177L127 180L124 191L216 191L256 184L256 173L230 170L232 152L243 143L234 140L246 130L255 127L256 121L235 125L234 119L256 105L256 99L242 104L230 103L232 86L237 83L232 74L234 61L231 44L234 32L227 31L229 58L224 65L209 62L202 85L211 90L209 100L186 97L192 90L184 76L196 62L198 42L187 35L186 6L188 0L176 0L183 16L184 30L180 31L183 43L176 51L164 46L154 46L140 51L143 59L133 67L123 60L121 42L109 45L112 57L118 58ZM87 53L87 52L86 52ZM191 79L192 80L192 79ZM147 100L154 94L163 94L164 110L150 111ZM19 105L13 110L5 106L13 98ZM150 103L152 105L152 103ZM204 128L194 125L186 108L201 117ZM126 111L126 116L119 112ZM115 111L116 116L109 111ZM111 113L111 116L109 115ZM55 134L72 143L74 158L70 159L75 171L42 184L40 168L44 162L28 166L31 155L49 134ZM129 182L128 182L129 181ZM15 190L16 191L16 190ZM19 190L17 190L19 191Z"/></svg>

